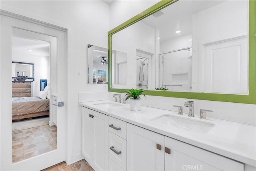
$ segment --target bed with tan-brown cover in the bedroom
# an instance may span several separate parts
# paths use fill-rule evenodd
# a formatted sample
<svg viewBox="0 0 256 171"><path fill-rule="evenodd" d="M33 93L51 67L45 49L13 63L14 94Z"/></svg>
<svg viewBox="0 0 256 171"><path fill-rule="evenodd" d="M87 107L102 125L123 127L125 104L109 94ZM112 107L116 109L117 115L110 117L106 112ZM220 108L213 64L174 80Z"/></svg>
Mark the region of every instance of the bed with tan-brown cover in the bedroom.
<svg viewBox="0 0 256 171"><path fill-rule="evenodd" d="M39 97L12 98L12 120L49 115L49 99Z"/></svg>

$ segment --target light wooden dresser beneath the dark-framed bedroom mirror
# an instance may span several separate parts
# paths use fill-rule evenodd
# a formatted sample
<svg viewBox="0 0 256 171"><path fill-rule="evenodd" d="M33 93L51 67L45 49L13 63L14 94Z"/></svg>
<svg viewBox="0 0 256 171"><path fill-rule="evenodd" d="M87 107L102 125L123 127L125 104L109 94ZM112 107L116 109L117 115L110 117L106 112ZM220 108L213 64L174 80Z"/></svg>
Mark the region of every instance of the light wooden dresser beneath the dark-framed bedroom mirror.
<svg viewBox="0 0 256 171"><path fill-rule="evenodd" d="M12 82L12 97L31 97L33 82Z"/></svg>

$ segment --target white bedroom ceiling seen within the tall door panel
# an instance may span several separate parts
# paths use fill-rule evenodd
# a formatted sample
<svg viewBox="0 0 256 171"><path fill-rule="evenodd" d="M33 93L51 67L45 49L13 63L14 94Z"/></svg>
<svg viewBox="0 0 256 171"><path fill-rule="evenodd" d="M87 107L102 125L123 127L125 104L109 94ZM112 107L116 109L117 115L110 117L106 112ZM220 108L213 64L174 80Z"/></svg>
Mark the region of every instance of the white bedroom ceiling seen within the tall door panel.
<svg viewBox="0 0 256 171"><path fill-rule="evenodd" d="M28 51L28 50L33 50ZM36 56L50 56L50 43L12 36L12 53Z"/></svg>

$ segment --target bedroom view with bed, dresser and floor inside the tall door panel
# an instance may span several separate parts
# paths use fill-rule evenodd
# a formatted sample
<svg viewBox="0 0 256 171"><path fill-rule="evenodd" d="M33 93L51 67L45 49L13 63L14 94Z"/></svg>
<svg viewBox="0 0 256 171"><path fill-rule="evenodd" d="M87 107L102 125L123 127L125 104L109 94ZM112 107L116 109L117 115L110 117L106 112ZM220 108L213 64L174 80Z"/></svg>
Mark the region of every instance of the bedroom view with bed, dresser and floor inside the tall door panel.
<svg viewBox="0 0 256 171"><path fill-rule="evenodd" d="M12 36L13 163L57 149L50 64L49 42Z"/></svg>

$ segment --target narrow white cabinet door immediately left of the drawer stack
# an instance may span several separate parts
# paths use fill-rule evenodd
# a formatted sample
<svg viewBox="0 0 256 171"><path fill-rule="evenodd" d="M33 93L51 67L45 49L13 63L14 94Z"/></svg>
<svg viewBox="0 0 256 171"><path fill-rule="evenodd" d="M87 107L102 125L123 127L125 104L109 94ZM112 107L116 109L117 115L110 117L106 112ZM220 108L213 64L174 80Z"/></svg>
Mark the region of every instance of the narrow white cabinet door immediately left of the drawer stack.
<svg viewBox="0 0 256 171"><path fill-rule="evenodd" d="M94 169L108 170L108 116L93 111L93 139Z"/></svg>

